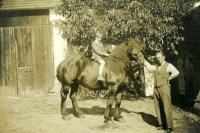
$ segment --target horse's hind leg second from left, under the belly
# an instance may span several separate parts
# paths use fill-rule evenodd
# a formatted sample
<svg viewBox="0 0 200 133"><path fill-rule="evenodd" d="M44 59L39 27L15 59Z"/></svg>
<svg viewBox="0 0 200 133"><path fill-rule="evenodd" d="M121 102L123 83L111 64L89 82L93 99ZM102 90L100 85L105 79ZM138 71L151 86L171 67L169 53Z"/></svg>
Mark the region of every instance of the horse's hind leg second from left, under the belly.
<svg viewBox="0 0 200 133"><path fill-rule="evenodd" d="M71 85L70 99L72 101L72 106L75 111L75 116L79 118L85 118L85 116L82 114L77 104L76 97L77 97L78 85L79 85L78 83L73 83Z"/></svg>

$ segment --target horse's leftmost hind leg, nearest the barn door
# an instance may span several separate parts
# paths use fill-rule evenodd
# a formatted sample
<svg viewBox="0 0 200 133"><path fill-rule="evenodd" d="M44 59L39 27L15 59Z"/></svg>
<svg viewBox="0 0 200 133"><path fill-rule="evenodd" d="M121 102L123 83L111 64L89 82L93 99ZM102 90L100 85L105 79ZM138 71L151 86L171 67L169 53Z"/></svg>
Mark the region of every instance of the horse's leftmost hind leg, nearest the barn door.
<svg viewBox="0 0 200 133"><path fill-rule="evenodd" d="M66 111L66 99L67 99L67 95L69 93L69 90L70 90L69 85L62 85L62 89L60 91L60 93L61 93L61 114L63 115L62 118L64 120L69 119L68 113Z"/></svg>

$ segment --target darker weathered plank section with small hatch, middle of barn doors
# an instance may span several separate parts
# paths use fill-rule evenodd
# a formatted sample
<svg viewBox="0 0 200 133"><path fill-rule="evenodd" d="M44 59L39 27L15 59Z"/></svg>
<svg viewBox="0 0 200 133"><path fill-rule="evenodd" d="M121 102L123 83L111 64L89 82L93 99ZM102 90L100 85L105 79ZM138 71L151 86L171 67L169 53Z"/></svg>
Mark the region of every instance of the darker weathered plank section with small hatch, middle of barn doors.
<svg viewBox="0 0 200 133"><path fill-rule="evenodd" d="M15 27L15 43L17 45L17 94L31 94L35 92L33 37L30 26Z"/></svg>

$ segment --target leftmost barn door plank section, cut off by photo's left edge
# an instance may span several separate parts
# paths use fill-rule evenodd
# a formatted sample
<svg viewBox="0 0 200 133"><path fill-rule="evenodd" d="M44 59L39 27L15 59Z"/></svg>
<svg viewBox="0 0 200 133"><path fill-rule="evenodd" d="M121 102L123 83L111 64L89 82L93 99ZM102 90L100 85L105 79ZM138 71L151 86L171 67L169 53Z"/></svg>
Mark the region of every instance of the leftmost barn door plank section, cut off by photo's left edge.
<svg viewBox="0 0 200 133"><path fill-rule="evenodd" d="M16 94L16 44L14 29L0 28L0 85L1 94Z"/></svg>

